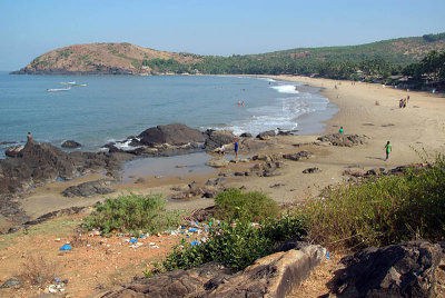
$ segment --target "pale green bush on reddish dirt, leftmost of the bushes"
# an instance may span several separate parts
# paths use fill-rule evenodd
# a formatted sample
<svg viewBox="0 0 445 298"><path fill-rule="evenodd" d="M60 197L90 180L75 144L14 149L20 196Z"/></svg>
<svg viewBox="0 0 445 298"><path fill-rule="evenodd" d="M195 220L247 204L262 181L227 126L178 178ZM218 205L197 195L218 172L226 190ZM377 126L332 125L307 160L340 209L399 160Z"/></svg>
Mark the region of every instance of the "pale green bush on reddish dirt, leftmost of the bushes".
<svg viewBox="0 0 445 298"><path fill-rule="evenodd" d="M105 234L113 230L132 232L159 232L180 225L178 211L166 211L166 201L160 195L145 197L129 193L107 199L96 205L96 211L85 218L87 229L99 229Z"/></svg>

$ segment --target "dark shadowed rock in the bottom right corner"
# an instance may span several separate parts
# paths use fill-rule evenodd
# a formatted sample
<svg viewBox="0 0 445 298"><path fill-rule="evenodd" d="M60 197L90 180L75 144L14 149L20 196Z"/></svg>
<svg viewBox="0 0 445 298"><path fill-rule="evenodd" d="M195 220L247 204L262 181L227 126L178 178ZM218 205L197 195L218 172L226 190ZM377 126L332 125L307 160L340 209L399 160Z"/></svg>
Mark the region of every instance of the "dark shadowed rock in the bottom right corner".
<svg viewBox="0 0 445 298"><path fill-rule="evenodd" d="M367 248L342 260L334 291L338 297L432 297L439 245L425 240Z"/></svg>

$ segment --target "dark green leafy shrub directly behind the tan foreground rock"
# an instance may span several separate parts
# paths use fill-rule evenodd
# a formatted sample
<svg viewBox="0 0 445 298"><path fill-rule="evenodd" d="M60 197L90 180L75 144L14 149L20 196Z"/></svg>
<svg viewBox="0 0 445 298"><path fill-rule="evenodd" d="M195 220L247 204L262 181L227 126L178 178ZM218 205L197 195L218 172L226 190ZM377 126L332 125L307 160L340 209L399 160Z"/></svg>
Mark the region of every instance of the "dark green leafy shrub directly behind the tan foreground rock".
<svg viewBox="0 0 445 298"><path fill-rule="evenodd" d="M247 220L236 225L221 222L206 242L190 246L184 240L164 261L166 270L189 269L209 261L220 261L240 270L273 252L277 244L305 235L301 221L293 216L268 219L259 228Z"/></svg>

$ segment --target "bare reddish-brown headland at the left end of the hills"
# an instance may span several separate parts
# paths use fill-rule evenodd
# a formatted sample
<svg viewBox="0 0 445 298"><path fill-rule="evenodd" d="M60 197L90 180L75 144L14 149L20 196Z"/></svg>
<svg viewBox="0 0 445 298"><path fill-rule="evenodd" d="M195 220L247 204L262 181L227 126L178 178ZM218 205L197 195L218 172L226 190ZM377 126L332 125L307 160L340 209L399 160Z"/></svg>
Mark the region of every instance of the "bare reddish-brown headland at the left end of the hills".
<svg viewBox="0 0 445 298"><path fill-rule="evenodd" d="M151 74L151 59L174 59L189 64L199 56L141 48L131 43L86 43L49 51L14 74Z"/></svg>

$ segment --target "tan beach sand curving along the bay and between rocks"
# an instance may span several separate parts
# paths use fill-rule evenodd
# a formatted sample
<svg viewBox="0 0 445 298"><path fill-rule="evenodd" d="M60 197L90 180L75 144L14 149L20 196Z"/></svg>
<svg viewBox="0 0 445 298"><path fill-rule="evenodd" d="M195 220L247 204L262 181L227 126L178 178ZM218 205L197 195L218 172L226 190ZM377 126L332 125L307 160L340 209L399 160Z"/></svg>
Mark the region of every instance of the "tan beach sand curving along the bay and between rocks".
<svg viewBox="0 0 445 298"><path fill-rule="evenodd" d="M402 165L422 162L418 152L425 152L433 160L437 152L445 152L445 98L441 95L426 92L409 93L407 90L384 88L382 85L372 85L350 81L335 81L294 76L270 77L276 80L299 81L308 86L320 87L322 95L335 103L339 111L325 123L325 132L309 136L275 137L278 149L250 153L298 152L307 150L315 157L303 160L284 160L284 167L277 170L274 177L228 177L226 187L245 187L247 190L259 190L277 202L303 201L329 186L337 185L346 179L343 171L346 169L368 170L373 168L395 168ZM337 86L337 88L335 88ZM398 108L398 100L409 95L411 100L405 109ZM312 145L317 137L337 132L343 126L346 135L365 135L367 143L355 147L334 147L328 145ZM393 145L393 151L385 161L384 147L386 141ZM137 193L162 193L167 197L175 191L175 186L187 186L196 181L204 186L207 179L217 177L221 171L231 172L248 169L258 161L247 163L231 163L228 169L216 170L206 175L189 175L186 177L144 177L145 182L129 183L116 187L117 196L128 191ZM322 171L303 173L306 168L317 167ZM139 178L139 177L137 177ZM68 208L71 206L91 206L102 196L93 198L65 198L60 192L71 186L87 180L98 179L98 175L85 177L69 182L52 182L36 188L21 200L22 208L32 218L43 213ZM169 201L169 209L197 209L214 205L212 199L195 198L185 201ZM8 225L0 219L2 226Z"/></svg>

